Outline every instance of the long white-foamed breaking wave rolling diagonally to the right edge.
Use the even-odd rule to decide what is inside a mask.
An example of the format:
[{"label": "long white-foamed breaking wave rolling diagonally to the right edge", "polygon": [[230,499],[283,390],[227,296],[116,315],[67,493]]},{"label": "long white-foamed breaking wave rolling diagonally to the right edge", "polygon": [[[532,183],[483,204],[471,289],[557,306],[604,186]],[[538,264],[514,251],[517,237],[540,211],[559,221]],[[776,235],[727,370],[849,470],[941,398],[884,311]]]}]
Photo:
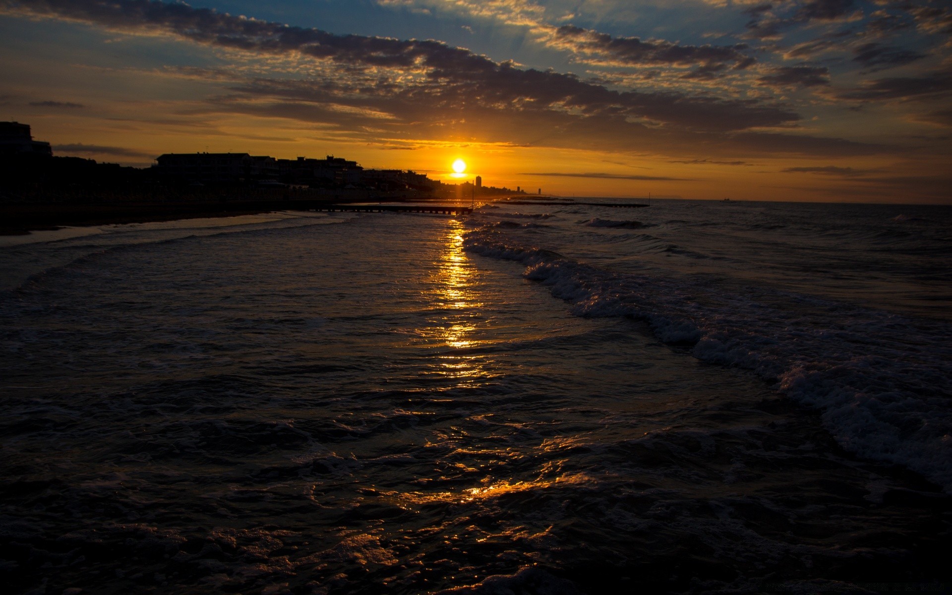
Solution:
[{"label": "long white-foamed breaking wave rolling diagonally to the right edge", "polygon": [[731,293],[689,277],[610,272],[499,231],[466,250],[520,262],[578,316],[645,321],[704,362],[753,370],[815,407],[846,449],[906,466],[952,493],[952,326],[759,288]]}]

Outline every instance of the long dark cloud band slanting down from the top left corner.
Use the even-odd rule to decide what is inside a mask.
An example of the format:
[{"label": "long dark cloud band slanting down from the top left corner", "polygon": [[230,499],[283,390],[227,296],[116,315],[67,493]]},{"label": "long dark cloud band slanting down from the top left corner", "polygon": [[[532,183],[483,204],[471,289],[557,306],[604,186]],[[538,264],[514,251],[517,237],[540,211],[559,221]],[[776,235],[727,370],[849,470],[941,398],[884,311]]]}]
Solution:
[{"label": "long dark cloud band slanting down from the top left corner", "polygon": [[[89,22],[112,30],[172,33],[197,43],[258,54],[329,60],[339,67],[334,78],[370,69],[393,70],[394,76],[387,78],[387,72],[379,73],[377,80],[367,83],[365,89],[351,90],[389,95],[394,101],[412,98],[429,109],[452,103],[517,111],[572,110],[582,117],[610,114],[667,127],[724,131],[780,126],[799,120],[789,109],[760,101],[718,100],[678,92],[616,91],[572,74],[517,69],[511,63],[497,63],[437,41],[335,35],[193,9],[185,4],[148,0],[0,0],[0,7],[8,12]],[[666,55],[669,60],[684,51],[659,45],[653,48],[651,51]],[[735,65],[741,59],[737,49],[702,47],[686,51],[685,60],[692,52],[695,57],[729,57]],[[416,76],[407,82],[410,77],[397,74]],[[333,81],[329,84],[332,86]],[[312,86],[309,90],[315,89]],[[334,100],[339,101],[340,97]]]}]

